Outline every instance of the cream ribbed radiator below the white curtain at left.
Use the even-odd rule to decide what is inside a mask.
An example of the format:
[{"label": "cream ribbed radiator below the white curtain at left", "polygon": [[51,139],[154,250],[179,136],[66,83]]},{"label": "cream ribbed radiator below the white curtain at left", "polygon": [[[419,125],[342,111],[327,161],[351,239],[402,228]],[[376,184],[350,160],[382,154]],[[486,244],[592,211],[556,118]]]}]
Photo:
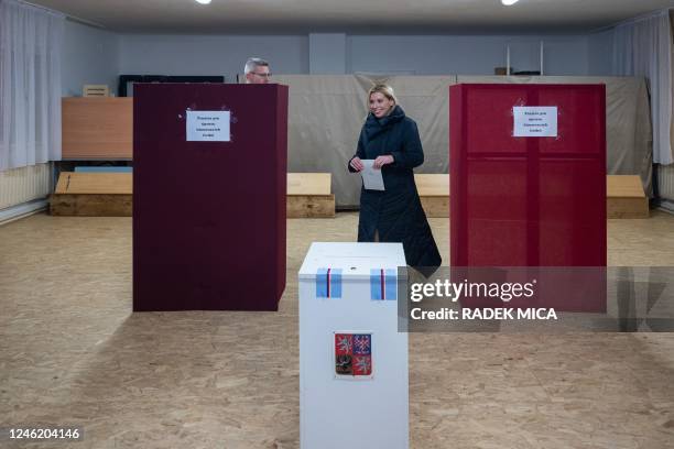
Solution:
[{"label": "cream ribbed radiator below the white curtain at left", "polygon": [[51,163],[0,172],[0,210],[45,198],[51,191]]}]

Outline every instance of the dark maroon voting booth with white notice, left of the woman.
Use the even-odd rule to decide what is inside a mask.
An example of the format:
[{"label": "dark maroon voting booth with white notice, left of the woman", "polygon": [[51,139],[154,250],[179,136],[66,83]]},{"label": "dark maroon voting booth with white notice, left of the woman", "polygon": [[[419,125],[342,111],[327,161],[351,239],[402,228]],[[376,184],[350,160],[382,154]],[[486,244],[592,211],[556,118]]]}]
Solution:
[{"label": "dark maroon voting booth with white notice, left of the woman", "polygon": [[133,310],[276,310],[287,87],[137,84]]}]

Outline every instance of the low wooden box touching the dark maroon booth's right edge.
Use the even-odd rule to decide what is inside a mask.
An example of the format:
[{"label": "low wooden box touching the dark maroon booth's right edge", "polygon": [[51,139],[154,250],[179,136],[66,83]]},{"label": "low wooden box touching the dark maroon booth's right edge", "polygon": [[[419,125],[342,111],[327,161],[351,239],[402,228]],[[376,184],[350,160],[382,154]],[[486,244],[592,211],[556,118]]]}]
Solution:
[{"label": "low wooden box touching the dark maroon booth's right edge", "polygon": [[335,217],[335,195],[330,194],[329,173],[289,173],[287,218]]}]

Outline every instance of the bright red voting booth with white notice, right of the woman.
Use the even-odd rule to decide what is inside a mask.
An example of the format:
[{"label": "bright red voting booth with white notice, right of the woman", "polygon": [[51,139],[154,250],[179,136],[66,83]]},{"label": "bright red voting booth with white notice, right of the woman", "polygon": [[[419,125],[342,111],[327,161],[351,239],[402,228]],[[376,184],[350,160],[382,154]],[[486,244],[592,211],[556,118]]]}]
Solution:
[{"label": "bright red voting booth with white notice, right of the woman", "polygon": [[[552,276],[537,280],[539,300],[604,310],[605,86],[464,84],[449,92],[452,266],[550,267],[537,272]],[[583,288],[555,296],[574,283]]]}]

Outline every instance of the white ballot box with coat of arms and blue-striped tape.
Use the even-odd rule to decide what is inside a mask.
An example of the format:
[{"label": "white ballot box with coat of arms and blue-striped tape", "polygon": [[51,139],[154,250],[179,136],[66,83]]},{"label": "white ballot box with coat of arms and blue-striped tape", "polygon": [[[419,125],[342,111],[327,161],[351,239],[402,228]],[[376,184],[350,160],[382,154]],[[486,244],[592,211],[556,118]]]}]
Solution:
[{"label": "white ballot box with coat of arms and blue-striped tape", "polygon": [[312,243],[300,269],[302,449],[407,449],[399,266],[400,243]]}]

